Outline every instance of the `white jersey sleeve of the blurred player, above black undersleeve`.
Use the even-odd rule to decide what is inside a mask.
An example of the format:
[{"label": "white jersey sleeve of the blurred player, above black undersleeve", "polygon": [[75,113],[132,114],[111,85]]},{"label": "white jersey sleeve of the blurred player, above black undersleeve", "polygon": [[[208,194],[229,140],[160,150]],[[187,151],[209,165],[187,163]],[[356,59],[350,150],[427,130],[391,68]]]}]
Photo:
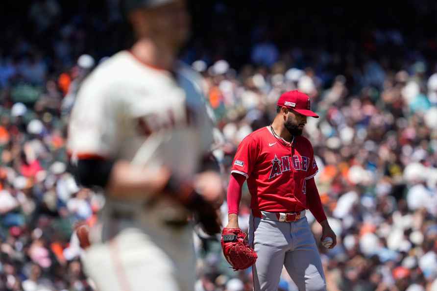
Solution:
[{"label": "white jersey sleeve of the blurred player, above black undersleeve", "polygon": [[68,127],[68,149],[73,158],[111,158],[118,150],[118,117],[122,106],[96,78],[79,90]]}]

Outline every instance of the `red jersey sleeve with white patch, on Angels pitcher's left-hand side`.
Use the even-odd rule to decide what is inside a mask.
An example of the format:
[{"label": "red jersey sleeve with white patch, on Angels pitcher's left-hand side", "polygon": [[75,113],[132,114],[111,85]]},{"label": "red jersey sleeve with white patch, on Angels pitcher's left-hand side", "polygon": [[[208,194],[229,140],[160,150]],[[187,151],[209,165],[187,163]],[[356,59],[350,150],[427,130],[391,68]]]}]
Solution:
[{"label": "red jersey sleeve with white patch, on Angels pitcher's left-hand side", "polygon": [[231,173],[242,174],[247,179],[256,163],[258,152],[256,141],[250,136],[244,138],[232,162]]}]

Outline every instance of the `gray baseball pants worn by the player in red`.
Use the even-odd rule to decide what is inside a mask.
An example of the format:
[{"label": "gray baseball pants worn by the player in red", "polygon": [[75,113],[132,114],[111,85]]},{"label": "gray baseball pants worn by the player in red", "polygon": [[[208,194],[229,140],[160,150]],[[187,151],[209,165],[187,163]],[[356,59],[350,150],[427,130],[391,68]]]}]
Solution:
[{"label": "gray baseball pants worn by the player in red", "polygon": [[261,212],[249,218],[249,244],[258,254],[253,266],[254,291],[277,291],[283,266],[299,291],[326,291],[320,255],[307,218],[280,222]]}]

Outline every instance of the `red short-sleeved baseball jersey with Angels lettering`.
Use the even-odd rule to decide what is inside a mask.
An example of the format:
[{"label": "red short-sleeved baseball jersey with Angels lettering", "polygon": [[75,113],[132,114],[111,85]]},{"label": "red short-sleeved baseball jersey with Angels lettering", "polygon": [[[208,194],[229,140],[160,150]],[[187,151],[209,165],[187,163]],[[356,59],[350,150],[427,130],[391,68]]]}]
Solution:
[{"label": "red short-sleeved baseball jersey with Angels lettering", "polygon": [[243,139],[231,173],[247,178],[252,210],[294,212],[308,209],[306,180],[317,171],[308,139],[297,136],[289,143],[276,137],[267,126]]}]

